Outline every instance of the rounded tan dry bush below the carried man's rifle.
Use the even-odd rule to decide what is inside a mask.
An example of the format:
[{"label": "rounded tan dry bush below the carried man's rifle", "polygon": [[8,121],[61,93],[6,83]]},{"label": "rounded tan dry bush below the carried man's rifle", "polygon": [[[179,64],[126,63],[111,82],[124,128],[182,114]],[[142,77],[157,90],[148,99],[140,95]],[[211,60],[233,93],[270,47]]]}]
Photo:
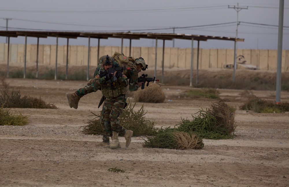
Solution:
[{"label": "rounded tan dry bush below the carried man's rifle", "polygon": [[145,103],[162,103],[165,99],[164,91],[156,83],[150,83],[149,86],[145,86],[144,89],[138,89],[134,93],[136,102]]}]

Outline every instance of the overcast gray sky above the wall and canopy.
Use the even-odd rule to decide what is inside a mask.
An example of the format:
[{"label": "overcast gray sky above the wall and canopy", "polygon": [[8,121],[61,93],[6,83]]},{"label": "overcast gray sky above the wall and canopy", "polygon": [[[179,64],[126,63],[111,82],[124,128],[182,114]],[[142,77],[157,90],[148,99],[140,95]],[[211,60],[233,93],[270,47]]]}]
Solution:
[{"label": "overcast gray sky above the wall and canopy", "polygon": [[[153,32],[236,37],[238,13],[239,49],[277,49],[279,0],[1,0],[0,30],[54,30],[84,32]],[[187,28],[183,28],[187,27]],[[0,43],[6,38],[0,37]],[[66,45],[66,39],[58,39]],[[10,38],[10,43],[24,43],[25,37]],[[97,46],[97,39],[90,45]],[[27,43],[37,43],[27,38]],[[40,44],[55,44],[56,39],[40,39]],[[88,45],[88,39],[70,39],[70,45]],[[101,39],[100,45],[120,46],[121,39]],[[124,39],[129,46],[129,40]],[[162,41],[158,41],[162,46]],[[133,40],[132,46],[155,46],[155,40]],[[173,41],[165,41],[173,47]],[[175,47],[191,47],[191,41],[175,40]],[[197,42],[194,43],[197,47]],[[234,48],[234,42],[208,40],[201,48]],[[289,1],[284,3],[283,49],[289,49]]]}]

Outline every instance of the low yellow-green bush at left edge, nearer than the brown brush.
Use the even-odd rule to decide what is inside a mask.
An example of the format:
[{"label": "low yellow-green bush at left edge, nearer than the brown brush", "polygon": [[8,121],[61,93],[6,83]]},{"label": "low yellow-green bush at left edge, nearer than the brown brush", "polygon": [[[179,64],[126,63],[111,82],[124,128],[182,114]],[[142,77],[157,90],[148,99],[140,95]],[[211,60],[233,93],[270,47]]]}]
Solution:
[{"label": "low yellow-green bush at left edge, nearer than the brown brush", "polygon": [[0,108],[0,125],[25,125],[28,123],[28,116],[12,114],[10,109]]}]

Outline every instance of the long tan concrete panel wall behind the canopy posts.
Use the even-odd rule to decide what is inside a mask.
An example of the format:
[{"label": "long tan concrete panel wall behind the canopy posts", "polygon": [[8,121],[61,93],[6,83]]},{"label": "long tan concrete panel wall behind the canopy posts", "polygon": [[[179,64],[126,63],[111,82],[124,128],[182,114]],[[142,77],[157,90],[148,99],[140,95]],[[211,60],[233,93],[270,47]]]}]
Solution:
[{"label": "long tan concrete panel wall behind the canopy posts", "polygon": [[[121,52],[118,46],[100,46],[99,57],[97,55],[97,46],[90,47],[90,66],[97,66],[97,60],[100,56],[112,56],[115,51]],[[123,47],[123,53],[129,56],[129,47]],[[157,67],[162,67],[162,47],[157,49]],[[7,64],[8,44],[0,43],[0,63]],[[23,62],[25,60],[25,45],[10,44],[9,64]],[[36,62],[37,45],[26,45],[26,62]],[[66,64],[67,46],[58,45],[57,63]],[[247,60],[246,64],[253,64],[261,70],[277,69],[277,50],[268,49],[237,49],[237,56],[243,55]],[[155,66],[155,47],[131,47],[131,56],[142,57],[149,65]],[[39,45],[38,63],[55,65],[56,45]],[[68,64],[87,65],[88,64],[88,46],[69,45],[68,46]],[[199,49],[199,69],[224,68],[227,64],[234,64],[234,49]],[[164,49],[164,67],[186,68],[191,67],[191,49],[165,47]],[[197,69],[197,48],[193,50],[193,68]],[[289,50],[282,51],[282,72],[289,71]]]}]

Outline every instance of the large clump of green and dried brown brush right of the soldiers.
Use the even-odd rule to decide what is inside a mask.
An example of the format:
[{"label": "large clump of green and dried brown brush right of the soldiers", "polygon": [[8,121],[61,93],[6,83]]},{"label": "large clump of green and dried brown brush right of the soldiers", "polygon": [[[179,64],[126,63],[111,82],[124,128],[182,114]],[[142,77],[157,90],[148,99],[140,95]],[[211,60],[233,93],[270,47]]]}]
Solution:
[{"label": "large clump of green and dried brown brush right of the soldiers", "polygon": [[174,128],[159,129],[152,137],[147,137],[143,147],[186,149],[203,148],[203,140],[233,138],[236,129],[235,113],[219,99],[210,109],[200,110],[193,120],[181,119],[182,122]]}]

